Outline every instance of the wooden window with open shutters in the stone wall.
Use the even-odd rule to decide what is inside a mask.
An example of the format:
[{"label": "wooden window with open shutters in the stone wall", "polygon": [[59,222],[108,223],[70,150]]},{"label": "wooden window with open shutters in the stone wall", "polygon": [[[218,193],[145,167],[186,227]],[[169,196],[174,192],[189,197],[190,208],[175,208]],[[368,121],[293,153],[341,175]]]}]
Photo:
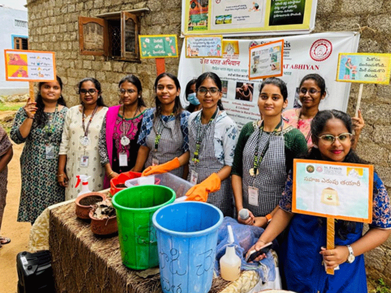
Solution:
[{"label": "wooden window with open shutters in the stone wall", "polygon": [[[113,60],[140,62],[138,33],[140,13],[147,8],[112,12],[99,18],[79,17],[79,46],[83,55],[108,56]],[[137,13],[138,15],[136,15]]]}]

